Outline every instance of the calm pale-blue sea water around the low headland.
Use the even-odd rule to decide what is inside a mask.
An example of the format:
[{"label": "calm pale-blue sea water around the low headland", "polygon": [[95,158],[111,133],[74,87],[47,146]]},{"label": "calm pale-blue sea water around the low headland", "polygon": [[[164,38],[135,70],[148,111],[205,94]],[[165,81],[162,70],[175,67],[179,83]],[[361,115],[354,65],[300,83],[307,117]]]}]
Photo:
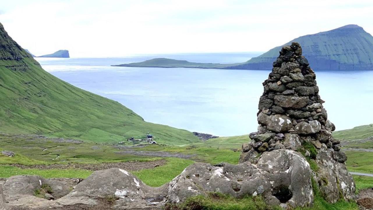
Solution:
[{"label": "calm pale-blue sea water around the low headland", "polygon": [[[179,54],[193,62],[244,62],[255,53]],[[153,56],[154,57],[154,56]],[[257,128],[257,104],[269,71],[111,67],[152,56],[37,58],[43,68],[84,90],[122,103],[146,121],[219,136]],[[329,119],[338,130],[373,123],[373,71],[316,72]]]}]

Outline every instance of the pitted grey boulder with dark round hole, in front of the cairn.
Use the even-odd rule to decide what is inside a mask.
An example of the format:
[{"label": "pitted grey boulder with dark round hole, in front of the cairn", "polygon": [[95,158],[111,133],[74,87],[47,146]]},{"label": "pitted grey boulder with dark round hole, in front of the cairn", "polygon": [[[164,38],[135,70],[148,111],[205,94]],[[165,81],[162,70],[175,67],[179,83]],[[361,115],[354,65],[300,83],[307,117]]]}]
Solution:
[{"label": "pitted grey boulder with dark round hole, in front of the cairn", "polygon": [[308,162],[292,150],[265,152],[256,165],[195,163],[170,182],[167,201],[217,191],[234,197],[262,195],[267,203],[284,207],[308,206],[313,202],[311,176]]}]

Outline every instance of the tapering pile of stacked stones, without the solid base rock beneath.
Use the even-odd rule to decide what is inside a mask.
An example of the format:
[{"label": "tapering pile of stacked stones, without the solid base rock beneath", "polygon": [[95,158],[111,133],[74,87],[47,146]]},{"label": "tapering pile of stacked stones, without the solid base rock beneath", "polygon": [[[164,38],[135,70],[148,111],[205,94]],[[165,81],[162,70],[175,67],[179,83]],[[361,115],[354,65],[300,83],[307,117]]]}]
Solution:
[{"label": "tapering pile of stacked stones, without the solid base rock beneath", "polygon": [[332,137],[335,126],[327,119],[316,74],[299,43],[282,47],[263,86],[258,131],[250,134],[250,143],[242,145],[240,162],[256,162],[265,151],[298,150],[305,141],[317,149],[325,144],[333,150],[333,159],[345,162],[339,140]]}]

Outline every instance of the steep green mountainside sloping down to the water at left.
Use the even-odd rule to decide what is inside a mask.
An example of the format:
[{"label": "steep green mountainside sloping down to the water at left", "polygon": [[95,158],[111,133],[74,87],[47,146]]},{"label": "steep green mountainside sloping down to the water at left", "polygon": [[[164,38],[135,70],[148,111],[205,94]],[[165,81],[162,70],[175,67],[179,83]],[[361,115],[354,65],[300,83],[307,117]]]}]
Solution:
[{"label": "steep green mountainside sloping down to the water at left", "polygon": [[191,132],[145,122],[120,103],[44,71],[0,23],[0,132],[124,141],[150,132],[166,144],[199,141]]}]

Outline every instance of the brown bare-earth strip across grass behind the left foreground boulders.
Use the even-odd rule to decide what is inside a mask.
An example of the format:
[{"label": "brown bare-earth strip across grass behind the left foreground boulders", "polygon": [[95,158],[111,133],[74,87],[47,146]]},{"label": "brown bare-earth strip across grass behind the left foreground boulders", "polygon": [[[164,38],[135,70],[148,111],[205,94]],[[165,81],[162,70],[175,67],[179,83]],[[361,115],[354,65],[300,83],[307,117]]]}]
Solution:
[{"label": "brown bare-earth strip across grass behind the left foreground boulders", "polygon": [[[9,164],[10,166],[19,167],[22,169],[85,169],[85,170],[103,170],[110,168],[120,168],[125,170],[141,170],[141,169],[152,169],[157,166],[166,164],[166,160],[154,160],[147,162],[140,161],[128,161],[120,163],[98,163],[98,164],[81,164],[81,163],[69,163],[69,164],[50,164],[50,165],[22,165],[22,164]],[[9,166],[8,165],[8,166]]]}]

